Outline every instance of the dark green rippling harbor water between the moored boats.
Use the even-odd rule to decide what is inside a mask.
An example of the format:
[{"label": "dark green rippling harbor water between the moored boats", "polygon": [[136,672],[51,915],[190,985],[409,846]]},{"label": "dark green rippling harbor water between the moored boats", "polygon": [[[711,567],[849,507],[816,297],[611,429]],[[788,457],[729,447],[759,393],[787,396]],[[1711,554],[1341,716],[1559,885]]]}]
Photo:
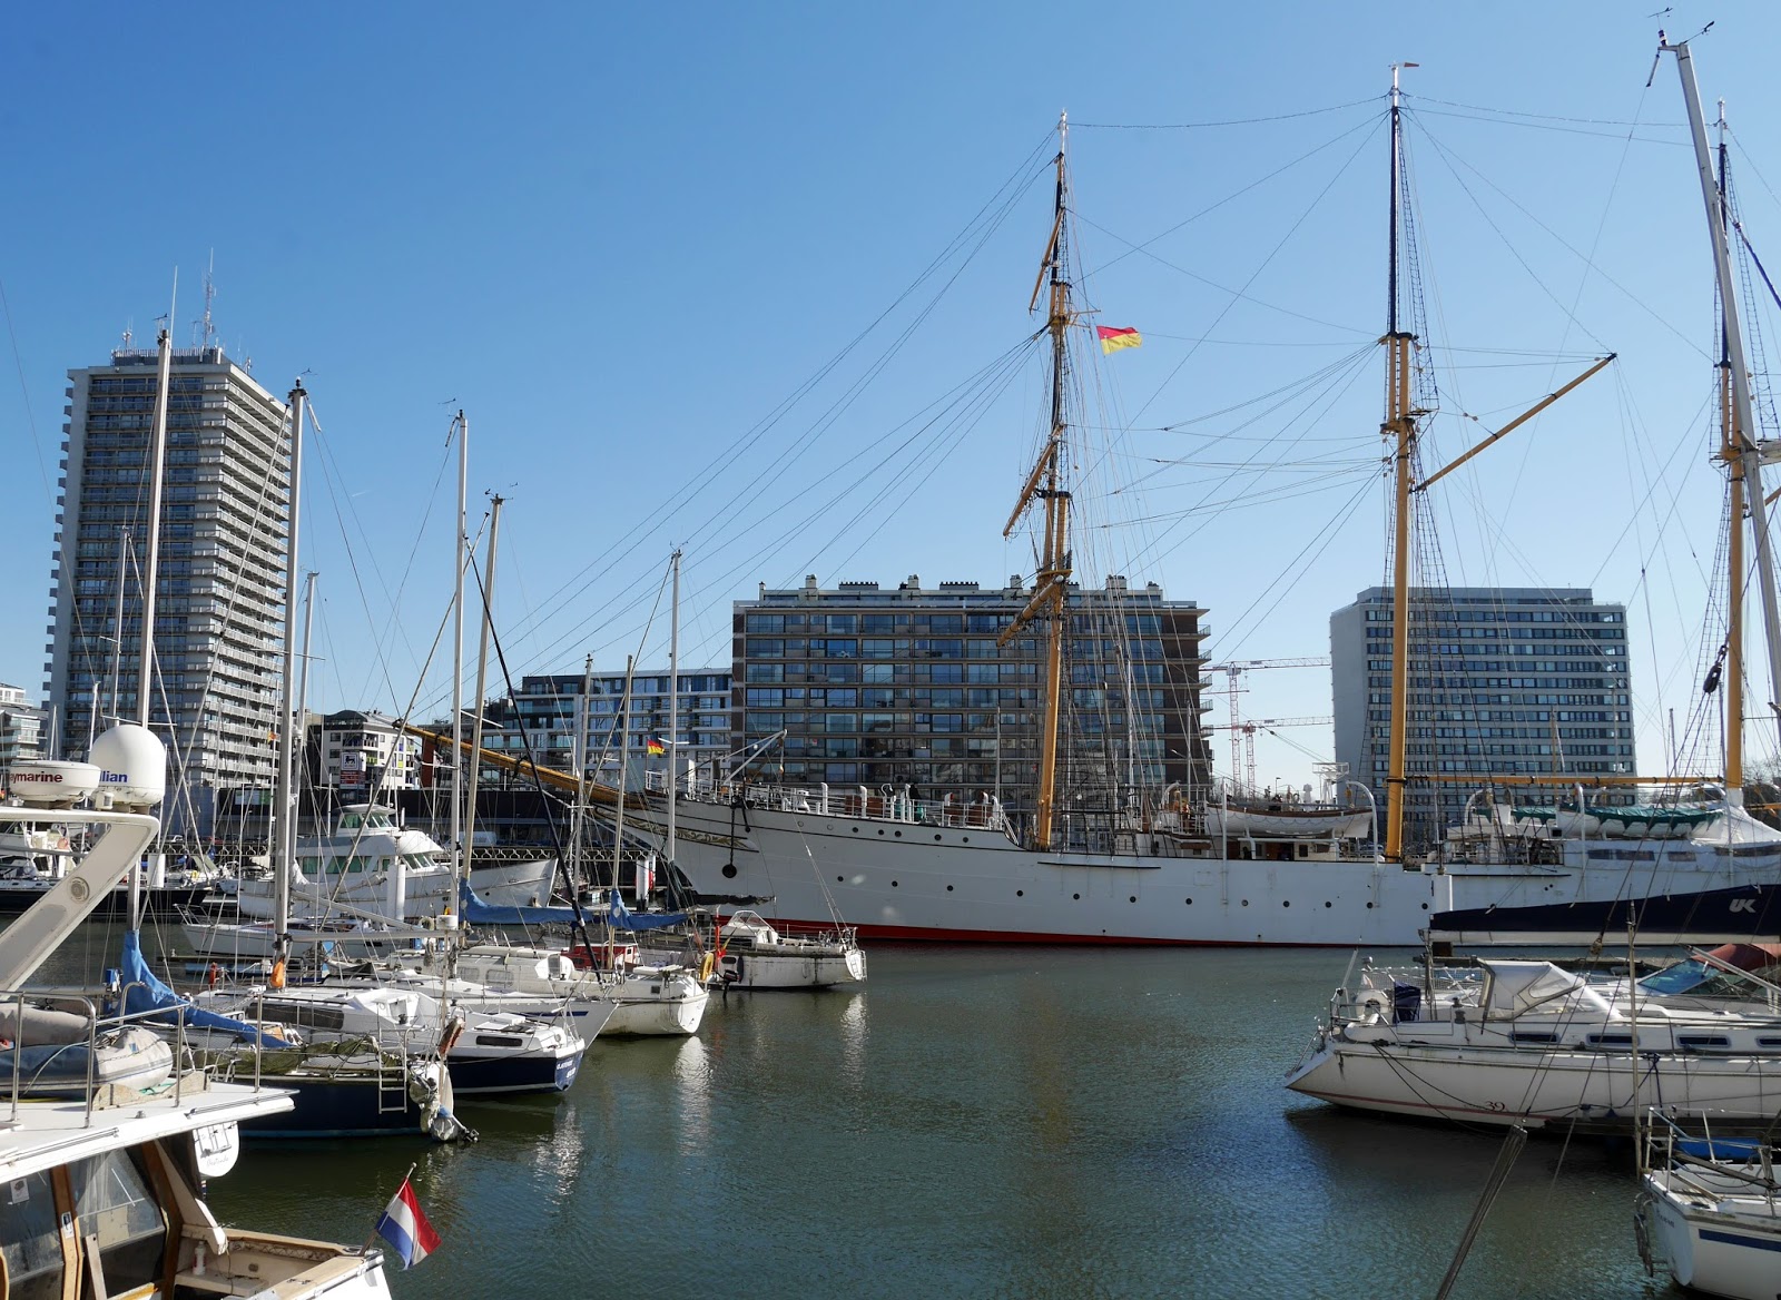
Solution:
[{"label": "dark green rippling harbor water between the moored boats", "polygon": [[[419,1161],[443,1243],[390,1261],[399,1300],[1434,1296],[1501,1136],[1284,1090],[1350,956],[873,946],[858,990],[712,997],[696,1038],[465,1106],[476,1145],[249,1147],[210,1200],[363,1241]],[[1631,1163],[1528,1142],[1452,1295],[1679,1295]]]}]

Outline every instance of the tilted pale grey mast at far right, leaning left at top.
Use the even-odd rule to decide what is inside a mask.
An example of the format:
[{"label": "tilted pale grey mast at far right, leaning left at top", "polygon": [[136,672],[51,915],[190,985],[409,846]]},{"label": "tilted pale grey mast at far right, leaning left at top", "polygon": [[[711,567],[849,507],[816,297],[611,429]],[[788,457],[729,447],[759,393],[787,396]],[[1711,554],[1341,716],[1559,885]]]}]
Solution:
[{"label": "tilted pale grey mast at far right, leaning left at top", "polygon": [[[1738,287],[1731,278],[1731,248],[1726,240],[1726,210],[1719,178],[1713,175],[1713,153],[1706,139],[1706,118],[1701,112],[1701,87],[1694,78],[1694,59],[1688,43],[1669,45],[1658,34],[1658,52],[1676,55],[1681,78],[1681,96],[1688,109],[1688,134],[1694,137],[1696,171],[1701,176],[1701,198],[1706,201],[1706,228],[1713,242],[1713,274],[1719,278],[1719,310],[1722,317],[1722,356],[1731,372],[1733,445],[1744,463],[1744,495],[1751,511],[1751,534],[1756,540],[1756,582],[1763,598],[1763,639],[1769,646],[1769,705],[1781,721],[1781,604],[1776,597],[1774,554],[1769,540],[1769,502],[1763,500],[1761,452],[1756,447],[1756,415],[1751,402],[1751,376],[1744,365],[1744,324],[1738,315]],[[1736,520],[1733,520],[1736,525]],[[1728,730],[1742,718],[1728,718]],[[1729,775],[1726,796],[1742,798],[1742,784],[1733,787]]]}]

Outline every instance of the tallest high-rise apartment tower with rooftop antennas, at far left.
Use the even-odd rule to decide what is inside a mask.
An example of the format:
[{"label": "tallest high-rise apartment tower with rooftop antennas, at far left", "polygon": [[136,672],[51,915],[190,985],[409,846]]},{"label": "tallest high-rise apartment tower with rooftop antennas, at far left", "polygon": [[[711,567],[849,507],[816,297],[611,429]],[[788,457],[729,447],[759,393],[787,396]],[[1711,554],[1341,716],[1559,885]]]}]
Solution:
[{"label": "tallest high-rise apartment tower with rooftop antennas, at far left", "polygon": [[[45,691],[61,753],[78,755],[110,719],[137,718],[157,354],[112,353],[68,378]],[[187,787],[169,807],[272,782],[287,424],[285,402],[221,347],[173,353],[148,709]]]}]

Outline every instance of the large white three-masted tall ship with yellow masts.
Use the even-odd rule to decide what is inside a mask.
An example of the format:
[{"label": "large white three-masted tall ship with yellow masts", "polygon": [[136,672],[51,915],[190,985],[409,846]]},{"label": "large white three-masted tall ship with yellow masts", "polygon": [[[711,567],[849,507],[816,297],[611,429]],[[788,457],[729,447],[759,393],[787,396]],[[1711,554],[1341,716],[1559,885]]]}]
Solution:
[{"label": "large white three-masted tall ship with yellow masts", "polygon": [[[1434,474],[1416,459],[1419,420],[1414,367],[1416,335],[1400,322],[1398,248],[1402,235],[1398,98],[1393,85],[1391,150],[1391,294],[1387,411],[1382,424],[1395,465],[1393,680],[1409,682],[1411,499],[1434,479],[1482,451],[1516,424],[1510,420],[1473,451]],[[1070,333],[1081,321],[1070,305],[1069,187],[1058,153],[1058,205],[1045,253],[1051,331],[1049,438],[1015,504],[1010,529],[1028,513],[1042,516],[1033,597],[1001,636],[1044,636],[1038,784],[1033,814],[1012,825],[994,798],[921,801],[908,789],[785,789],[737,780],[696,780],[675,771],[675,787],[629,801],[629,826],[663,844],[702,896],[700,901],[760,901],[773,922],[855,926],[862,938],[1026,940],[1111,944],[1419,944],[1441,914],[1489,914],[1492,924],[1537,914],[1541,924],[1573,924],[1587,915],[1599,930],[1614,906],[1644,899],[1681,901],[1678,938],[1751,933],[1753,887],[1781,885],[1781,833],[1761,826],[1733,798],[1706,807],[1687,833],[1610,839],[1610,826],[1587,819],[1541,835],[1537,851],[1517,844],[1496,851],[1478,839],[1441,846],[1427,858],[1407,853],[1403,787],[1409,711],[1391,711],[1391,775],[1384,835],[1373,849],[1366,808],[1329,803],[1298,807],[1293,816],[1236,803],[1208,807],[1206,794],[1159,791],[1129,796],[1118,807],[1081,812],[1063,805],[1058,784],[1060,696],[1067,598],[1072,575],[1069,541],[1072,463],[1063,399],[1072,369]],[[1037,301],[1037,296],[1035,296]],[[1423,349],[1425,351],[1425,349]],[[1544,410],[1582,376],[1535,404]],[[1081,362],[1076,363],[1081,367]],[[1754,492],[1751,500],[1760,500]],[[1733,664],[1736,668],[1736,664]],[[1736,673],[1731,673],[1733,677]],[[1738,716],[1738,714],[1733,714]],[[679,764],[677,764],[679,768]],[[1728,764],[1728,773],[1735,764]],[[1446,780],[1446,776],[1441,776]],[[1489,784],[1489,773],[1466,776]],[[1599,782],[1603,778],[1590,778]],[[1612,780],[1612,778],[1608,778]],[[1624,778],[1630,780],[1630,778]],[[1069,819],[1058,816],[1070,807]],[[1090,825],[1092,823],[1092,825]],[[1619,826],[1621,832],[1628,828]],[[1487,841],[1489,837],[1485,837]],[[1699,905],[1696,905],[1699,903]],[[737,903],[746,906],[746,903]],[[1576,910],[1567,922],[1565,910]],[[1781,912],[1781,908],[1777,908]],[[1624,924],[1621,926],[1624,931]],[[1587,942],[1582,937],[1578,942]],[[1658,942],[1658,935],[1646,935]]]}]

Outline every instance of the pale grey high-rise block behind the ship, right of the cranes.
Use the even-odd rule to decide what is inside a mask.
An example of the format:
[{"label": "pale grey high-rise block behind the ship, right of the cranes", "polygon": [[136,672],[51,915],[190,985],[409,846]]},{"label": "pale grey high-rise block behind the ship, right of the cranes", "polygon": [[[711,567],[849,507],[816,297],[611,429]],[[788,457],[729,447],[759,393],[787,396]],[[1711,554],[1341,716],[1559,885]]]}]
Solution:
[{"label": "pale grey high-rise block behind the ship, right of the cranes", "polygon": [[[1391,744],[1391,591],[1368,588],[1330,614],[1336,760],[1386,808]],[[1626,607],[1589,588],[1414,588],[1405,841],[1457,821],[1480,782],[1565,785],[1631,775]],[[1553,785],[1541,791],[1551,803]]]}]

